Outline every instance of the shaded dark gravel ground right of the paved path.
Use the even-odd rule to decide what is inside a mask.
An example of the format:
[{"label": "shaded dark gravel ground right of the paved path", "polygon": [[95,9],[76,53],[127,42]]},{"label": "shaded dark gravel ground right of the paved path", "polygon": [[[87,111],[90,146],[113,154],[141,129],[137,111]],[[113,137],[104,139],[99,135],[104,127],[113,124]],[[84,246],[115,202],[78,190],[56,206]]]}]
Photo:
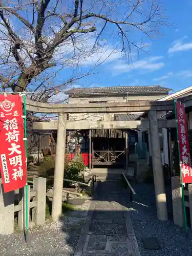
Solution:
[{"label": "shaded dark gravel ground right of the paved path", "polygon": [[[134,188],[137,195],[129,203],[129,209],[141,256],[192,255],[192,230],[189,229],[186,235],[184,229],[174,225],[172,221],[157,220],[153,185],[137,184]],[[141,240],[143,237],[158,238],[161,249],[144,249]]]}]

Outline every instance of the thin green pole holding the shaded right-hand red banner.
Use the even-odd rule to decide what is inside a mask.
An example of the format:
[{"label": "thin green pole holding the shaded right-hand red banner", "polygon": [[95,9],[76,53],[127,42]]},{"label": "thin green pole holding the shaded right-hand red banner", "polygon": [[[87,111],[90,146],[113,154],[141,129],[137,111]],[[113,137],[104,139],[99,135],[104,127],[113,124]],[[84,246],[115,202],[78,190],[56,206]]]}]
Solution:
[{"label": "thin green pole holding the shaded right-hand red banner", "polygon": [[177,144],[178,144],[178,152],[179,152],[179,168],[180,168],[180,176],[181,176],[181,191],[182,191],[182,202],[183,202],[183,215],[184,215],[184,226],[185,232],[187,232],[187,218],[186,218],[186,208],[185,208],[185,198],[184,198],[184,186],[183,186],[183,174],[181,169],[181,159],[180,159],[180,148],[179,148],[179,133],[178,133],[178,121],[177,121],[177,108],[176,108],[177,99],[174,99],[175,105],[175,117],[176,117],[176,127],[177,127]]}]

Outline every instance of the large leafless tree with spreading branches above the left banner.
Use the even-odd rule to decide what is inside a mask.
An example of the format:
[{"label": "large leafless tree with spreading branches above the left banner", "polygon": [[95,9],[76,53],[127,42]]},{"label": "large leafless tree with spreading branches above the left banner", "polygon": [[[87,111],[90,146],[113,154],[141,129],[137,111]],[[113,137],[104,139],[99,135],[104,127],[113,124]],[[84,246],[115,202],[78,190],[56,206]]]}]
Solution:
[{"label": "large leafless tree with spreading branches above the left banner", "polygon": [[[93,74],[114,51],[142,49],[144,36],[166,22],[158,0],[5,0],[0,17],[2,90],[31,91],[41,101]],[[82,62],[109,49],[106,37],[118,44],[82,71]]]}]

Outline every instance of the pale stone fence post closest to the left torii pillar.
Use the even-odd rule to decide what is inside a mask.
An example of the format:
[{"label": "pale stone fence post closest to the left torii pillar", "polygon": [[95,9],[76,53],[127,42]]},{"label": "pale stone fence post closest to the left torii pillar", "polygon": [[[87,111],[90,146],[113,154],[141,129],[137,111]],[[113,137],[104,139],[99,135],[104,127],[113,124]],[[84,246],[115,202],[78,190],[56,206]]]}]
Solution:
[{"label": "pale stone fence post closest to the left torii pillar", "polygon": [[32,210],[32,221],[36,225],[42,225],[46,221],[46,179],[38,177],[33,181],[33,190],[36,191],[34,197],[36,206]]}]

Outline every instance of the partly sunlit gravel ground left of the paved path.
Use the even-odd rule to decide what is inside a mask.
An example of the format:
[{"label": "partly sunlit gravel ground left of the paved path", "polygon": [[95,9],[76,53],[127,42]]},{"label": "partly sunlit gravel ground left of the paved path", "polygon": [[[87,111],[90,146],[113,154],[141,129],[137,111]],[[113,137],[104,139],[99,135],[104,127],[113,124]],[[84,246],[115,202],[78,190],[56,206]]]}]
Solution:
[{"label": "partly sunlit gravel ground left of the paved path", "polygon": [[30,229],[27,244],[23,233],[0,236],[0,255],[73,255],[90,203],[87,200],[82,206],[78,206],[78,210],[62,216],[57,223]]}]

